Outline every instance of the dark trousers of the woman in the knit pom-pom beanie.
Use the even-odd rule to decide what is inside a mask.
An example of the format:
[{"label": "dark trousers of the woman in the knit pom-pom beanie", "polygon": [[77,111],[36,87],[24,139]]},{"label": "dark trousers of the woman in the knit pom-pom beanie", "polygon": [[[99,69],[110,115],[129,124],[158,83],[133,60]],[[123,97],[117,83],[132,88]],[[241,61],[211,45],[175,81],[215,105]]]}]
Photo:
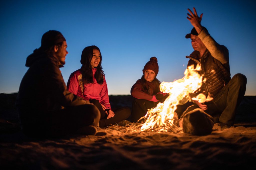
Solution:
[{"label": "dark trousers of the woman in the knit pom-pom beanie", "polygon": [[141,117],[146,115],[148,109],[154,108],[156,105],[157,102],[134,98],[130,117],[131,122],[137,122]]}]

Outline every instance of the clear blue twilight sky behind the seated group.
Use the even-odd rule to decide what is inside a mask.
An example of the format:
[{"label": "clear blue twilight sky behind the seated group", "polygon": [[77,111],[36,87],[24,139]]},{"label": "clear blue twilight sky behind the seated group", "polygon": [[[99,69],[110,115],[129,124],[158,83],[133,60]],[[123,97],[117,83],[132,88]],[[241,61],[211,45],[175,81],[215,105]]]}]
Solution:
[{"label": "clear blue twilight sky behind the seated group", "polygon": [[[203,2],[203,3],[202,3]],[[232,2],[232,3],[231,3]],[[156,56],[157,78],[183,77],[193,48],[185,35],[187,8],[204,13],[201,24],[229,49],[231,76],[247,76],[246,95],[256,95],[255,1],[6,1],[0,3],[0,93],[18,91],[26,57],[42,35],[60,31],[67,40],[65,82],[81,67],[84,47],[100,48],[109,95],[130,94],[145,63]]]}]

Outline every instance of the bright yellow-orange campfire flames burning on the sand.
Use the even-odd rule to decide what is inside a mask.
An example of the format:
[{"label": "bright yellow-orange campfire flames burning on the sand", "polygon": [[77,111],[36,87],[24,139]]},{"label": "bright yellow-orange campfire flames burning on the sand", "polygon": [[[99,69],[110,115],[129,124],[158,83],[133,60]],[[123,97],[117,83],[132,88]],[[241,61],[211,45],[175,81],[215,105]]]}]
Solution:
[{"label": "bright yellow-orange campfire flames burning on the sand", "polygon": [[[168,93],[169,96],[163,103],[158,103],[155,108],[148,110],[145,115],[145,123],[141,127],[141,131],[150,130],[158,132],[169,132],[174,125],[174,113],[178,104],[184,104],[190,100],[189,93],[194,93],[202,85],[202,76],[198,74],[201,70],[199,64],[194,66],[188,66],[184,72],[182,79],[174,82],[162,82],[160,84],[160,90],[164,93]],[[204,80],[206,81],[206,80]],[[200,96],[199,96],[200,95]],[[203,94],[199,94],[193,100],[199,102],[206,101],[206,97]],[[208,95],[210,96],[210,95]],[[207,97],[207,101],[211,100]]]}]

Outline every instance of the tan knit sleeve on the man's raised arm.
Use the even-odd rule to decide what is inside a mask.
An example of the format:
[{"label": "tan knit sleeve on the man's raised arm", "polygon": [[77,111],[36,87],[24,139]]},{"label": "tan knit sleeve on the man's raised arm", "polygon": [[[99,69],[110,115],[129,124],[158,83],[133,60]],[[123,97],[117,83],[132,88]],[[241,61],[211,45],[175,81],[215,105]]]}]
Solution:
[{"label": "tan knit sleeve on the man's raised arm", "polygon": [[209,50],[212,57],[219,60],[222,64],[229,62],[227,47],[225,47],[224,45],[219,45],[204,29],[202,29],[202,31],[198,34],[198,37]]}]

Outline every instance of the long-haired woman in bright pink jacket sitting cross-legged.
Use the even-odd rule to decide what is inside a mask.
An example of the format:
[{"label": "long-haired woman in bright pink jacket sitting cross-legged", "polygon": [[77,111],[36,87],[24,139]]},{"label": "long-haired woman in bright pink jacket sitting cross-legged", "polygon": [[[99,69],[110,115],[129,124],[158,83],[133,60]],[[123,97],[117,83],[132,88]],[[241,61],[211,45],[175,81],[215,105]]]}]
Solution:
[{"label": "long-haired woman in bright pink jacket sitting cross-legged", "polygon": [[101,67],[100,49],[94,45],[85,47],[80,62],[81,69],[73,72],[69,77],[68,90],[97,106],[101,113],[100,127],[127,119],[131,114],[129,108],[117,108],[113,111],[111,109],[105,74]]}]

